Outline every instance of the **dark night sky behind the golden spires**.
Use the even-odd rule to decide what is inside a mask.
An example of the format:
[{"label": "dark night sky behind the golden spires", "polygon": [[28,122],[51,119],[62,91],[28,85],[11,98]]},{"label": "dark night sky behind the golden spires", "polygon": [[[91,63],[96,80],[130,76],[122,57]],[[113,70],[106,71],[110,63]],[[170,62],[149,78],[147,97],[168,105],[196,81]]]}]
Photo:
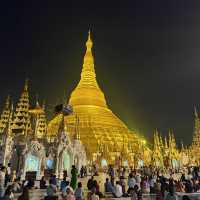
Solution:
[{"label": "dark night sky behind the golden spires", "polygon": [[0,103],[35,96],[67,102],[78,83],[89,27],[97,79],[108,105],[148,138],[173,129],[191,142],[200,112],[200,1],[3,1]]}]

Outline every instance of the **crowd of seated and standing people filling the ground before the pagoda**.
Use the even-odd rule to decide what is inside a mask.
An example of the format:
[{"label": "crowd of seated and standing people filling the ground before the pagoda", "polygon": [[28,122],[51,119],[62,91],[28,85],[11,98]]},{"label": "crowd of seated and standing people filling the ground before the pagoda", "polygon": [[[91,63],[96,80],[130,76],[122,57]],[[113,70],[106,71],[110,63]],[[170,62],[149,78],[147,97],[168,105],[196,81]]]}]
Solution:
[{"label": "crowd of seated and standing people filling the ground before the pagoda", "polygon": [[[189,200],[188,193],[198,193],[200,196],[200,169],[199,167],[185,168],[179,171],[172,169],[162,170],[153,167],[140,169],[119,168],[109,166],[104,189],[100,187],[97,168],[88,178],[87,188],[83,188],[83,177],[87,177],[87,168],[82,167],[80,172],[72,166],[71,174],[64,173],[61,181],[51,174],[42,177],[39,188],[45,191],[45,200],[56,200],[60,196],[63,200],[99,200],[99,198],[129,197],[131,200],[141,200],[145,195],[154,195],[155,200],[177,200],[182,194],[183,200]],[[79,181],[78,181],[79,178]],[[29,200],[31,190],[35,190],[35,181],[27,178],[21,181],[11,173],[11,166],[0,168],[0,199],[13,200],[14,194],[19,193],[18,200]],[[101,188],[101,189],[100,189]],[[101,191],[102,190],[102,191]],[[187,195],[186,195],[187,194]],[[180,199],[180,195],[179,195]]]}]

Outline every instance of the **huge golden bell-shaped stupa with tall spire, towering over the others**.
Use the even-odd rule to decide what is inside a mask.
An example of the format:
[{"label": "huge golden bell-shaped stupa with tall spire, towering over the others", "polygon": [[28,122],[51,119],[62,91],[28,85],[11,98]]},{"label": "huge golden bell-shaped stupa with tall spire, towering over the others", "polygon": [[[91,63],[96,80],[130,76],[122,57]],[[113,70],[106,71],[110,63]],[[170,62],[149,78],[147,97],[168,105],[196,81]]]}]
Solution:
[{"label": "huge golden bell-shaped stupa with tall spire, towering over the others", "polygon": [[[123,146],[128,149],[130,143],[136,149],[139,140],[138,136],[133,134],[109,109],[104,93],[96,80],[92,46],[93,42],[89,32],[81,78],[69,99],[73,114],[65,116],[64,120],[72,138],[76,134],[78,123],[80,140],[86,147],[89,157],[98,152],[99,143],[103,143],[101,145],[110,153],[109,160],[114,160],[111,152],[112,155],[115,153],[119,155]],[[62,116],[57,115],[49,122],[48,137],[55,137],[58,134],[61,120]]]}]

